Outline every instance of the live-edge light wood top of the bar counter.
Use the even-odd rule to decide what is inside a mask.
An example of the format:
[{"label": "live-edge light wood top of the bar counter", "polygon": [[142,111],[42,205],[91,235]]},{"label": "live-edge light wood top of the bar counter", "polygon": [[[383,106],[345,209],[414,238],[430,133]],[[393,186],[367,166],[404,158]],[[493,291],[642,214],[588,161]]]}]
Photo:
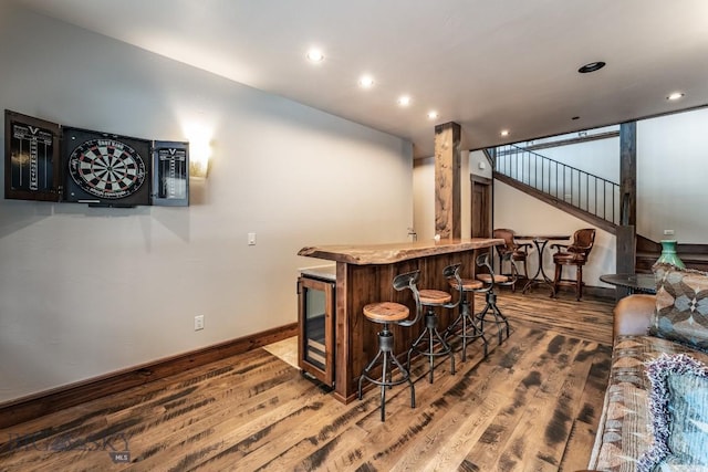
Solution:
[{"label": "live-edge light wood top of the bar counter", "polygon": [[442,239],[440,241],[430,239],[386,244],[306,247],[302,248],[298,255],[355,265],[392,264],[416,258],[470,251],[503,243],[503,239],[492,238]]}]

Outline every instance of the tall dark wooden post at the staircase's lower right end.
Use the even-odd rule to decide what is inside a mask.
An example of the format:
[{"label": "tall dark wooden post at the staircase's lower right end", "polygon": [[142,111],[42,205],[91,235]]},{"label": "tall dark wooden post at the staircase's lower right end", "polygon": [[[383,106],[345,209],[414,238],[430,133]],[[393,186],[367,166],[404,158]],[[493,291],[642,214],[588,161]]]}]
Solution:
[{"label": "tall dark wooden post at the staircase's lower right end", "polygon": [[[637,124],[620,125],[620,227],[616,235],[617,273],[634,273],[636,270],[636,219],[637,219]],[[626,289],[617,287],[617,300],[627,295]]]}]

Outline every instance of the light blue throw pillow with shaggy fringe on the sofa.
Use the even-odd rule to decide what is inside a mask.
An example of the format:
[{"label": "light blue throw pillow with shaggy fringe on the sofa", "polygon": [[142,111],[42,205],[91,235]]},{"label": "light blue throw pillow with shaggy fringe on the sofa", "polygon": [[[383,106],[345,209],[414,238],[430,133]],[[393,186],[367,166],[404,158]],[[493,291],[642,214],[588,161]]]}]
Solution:
[{"label": "light blue throw pillow with shaggy fringe on the sofa", "polygon": [[708,367],[687,354],[647,363],[654,442],[637,472],[708,470]]}]

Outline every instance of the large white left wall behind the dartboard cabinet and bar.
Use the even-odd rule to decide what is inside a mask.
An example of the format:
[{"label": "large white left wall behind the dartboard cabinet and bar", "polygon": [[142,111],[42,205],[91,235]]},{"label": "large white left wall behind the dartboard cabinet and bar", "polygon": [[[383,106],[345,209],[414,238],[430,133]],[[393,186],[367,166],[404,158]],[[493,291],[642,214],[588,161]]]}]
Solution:
[{"label": "large white left wall behind the dartboard cabinet and bar", "polygon": [[3,109],[212,133],[189,208],[0,200],[0,401],[293,323],[296,269],[322,263],[299,249],[404,241],[413,224],[406,140],[8,2],[0,64]]}]

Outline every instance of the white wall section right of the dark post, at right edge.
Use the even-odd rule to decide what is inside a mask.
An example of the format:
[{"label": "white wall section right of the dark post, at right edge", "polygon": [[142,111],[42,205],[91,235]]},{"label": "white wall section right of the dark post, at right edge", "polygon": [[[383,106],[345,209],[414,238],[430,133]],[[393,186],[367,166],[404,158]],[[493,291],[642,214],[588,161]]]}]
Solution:
[{"label": "white wall section right of the dark post, at right edge", "polygon": [[[708,243],[708,108],[637,123],[637,232]],[[664,235],[674,230],[674,237]]]}]

